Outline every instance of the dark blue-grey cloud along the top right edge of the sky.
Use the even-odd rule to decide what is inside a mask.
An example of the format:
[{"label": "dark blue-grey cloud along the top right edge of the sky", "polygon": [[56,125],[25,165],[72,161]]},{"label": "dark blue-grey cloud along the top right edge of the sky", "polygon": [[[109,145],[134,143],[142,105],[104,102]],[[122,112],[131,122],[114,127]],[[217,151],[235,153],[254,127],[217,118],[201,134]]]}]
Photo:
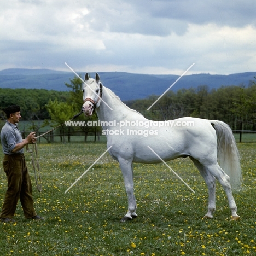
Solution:
[{"label": "dark blue-grey cloud along the top right edge of the sky", "polygon": [[194,24],[215,23],[235,27],[256,24],[254,0],[133,0],[133,4],[137,5],[137,10],[147,11],[150,16],[160,19],[165,17]]}]

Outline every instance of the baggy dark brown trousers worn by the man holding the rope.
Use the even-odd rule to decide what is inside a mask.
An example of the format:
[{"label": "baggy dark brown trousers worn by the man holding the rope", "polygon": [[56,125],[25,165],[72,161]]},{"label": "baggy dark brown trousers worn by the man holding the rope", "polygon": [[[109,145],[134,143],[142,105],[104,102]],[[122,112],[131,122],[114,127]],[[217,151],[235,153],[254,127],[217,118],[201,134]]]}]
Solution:
[{"label": "baggy dark brown trousers worn by the man holding the rope", "polygon": [[19,199],[25,218],[36,216],[33,206],[32,185],[24,155],[4,155],[3,169],[7,176],[8,188],[0,217],[13,218]]}]

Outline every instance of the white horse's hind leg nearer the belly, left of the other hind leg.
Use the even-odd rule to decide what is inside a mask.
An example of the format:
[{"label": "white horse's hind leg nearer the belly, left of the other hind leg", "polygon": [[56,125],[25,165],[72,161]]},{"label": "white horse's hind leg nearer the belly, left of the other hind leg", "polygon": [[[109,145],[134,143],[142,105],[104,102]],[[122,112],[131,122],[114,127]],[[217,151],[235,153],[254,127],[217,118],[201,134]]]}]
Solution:
[{"label": "white horse's hind leg nearer the belly, left of the other hind leg", "polygon": [[205,179],[205,182],[208,187],[208,211],[205,214],[203,218],[205,219],[211,219],[213,218],[213,213],[216,209],[216,179],[210,172],[207,172],[206,168],[203,167],[200,162],[194,158],[190,159],[194,162],[194,165],[199,170],[200,174],[202,175],[203,179]]}]

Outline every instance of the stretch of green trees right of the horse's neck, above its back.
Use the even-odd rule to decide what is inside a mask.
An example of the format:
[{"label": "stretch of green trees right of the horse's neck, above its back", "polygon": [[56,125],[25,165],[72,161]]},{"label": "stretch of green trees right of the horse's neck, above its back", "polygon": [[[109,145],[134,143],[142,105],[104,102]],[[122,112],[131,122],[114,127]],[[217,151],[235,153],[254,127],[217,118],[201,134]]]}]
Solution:
[{"label": "stretch of green trees right of the horse's neck, above its back", "polygon": [[222,86],[210,90],[207,85],[168,91],[159,96],[127,102],[129,107],[153,120],[196,117],[221,120],[232,130],[256,130],[256,83],[246,86]]}]

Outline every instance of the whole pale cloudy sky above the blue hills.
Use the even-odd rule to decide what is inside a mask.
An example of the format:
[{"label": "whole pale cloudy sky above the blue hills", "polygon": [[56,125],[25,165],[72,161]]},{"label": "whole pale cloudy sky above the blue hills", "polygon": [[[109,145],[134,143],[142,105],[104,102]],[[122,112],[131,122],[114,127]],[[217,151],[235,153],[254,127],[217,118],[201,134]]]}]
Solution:
[{"label": "whole pale cloudy sky above the blue hills", "polygon": [[256,71],[255,0],[8,0],[0,70]]}]

